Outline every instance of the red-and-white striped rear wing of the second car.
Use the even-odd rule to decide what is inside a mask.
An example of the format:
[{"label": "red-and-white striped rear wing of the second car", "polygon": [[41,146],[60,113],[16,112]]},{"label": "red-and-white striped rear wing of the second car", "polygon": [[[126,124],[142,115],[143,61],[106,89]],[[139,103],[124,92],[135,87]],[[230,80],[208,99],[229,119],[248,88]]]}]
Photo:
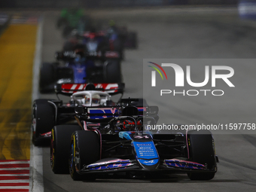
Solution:
[{"label": "red-and-white striped rear wing of the second car", "polygon": [[66,96],[82,90],[100,90],[109,95],[123,94],[124,84],[56,84],[55,92]]}]

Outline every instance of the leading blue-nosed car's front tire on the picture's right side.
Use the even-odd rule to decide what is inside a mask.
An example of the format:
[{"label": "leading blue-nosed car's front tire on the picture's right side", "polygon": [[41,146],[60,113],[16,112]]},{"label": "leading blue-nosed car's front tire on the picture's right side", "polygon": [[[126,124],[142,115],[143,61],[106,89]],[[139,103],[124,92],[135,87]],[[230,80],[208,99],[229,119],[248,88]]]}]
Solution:
[{"label": "leading blue-nosed car's front tire on the picture's right side", "polygon": [[[217,171],[215,159],[215,146],[212,133],[209,130],[191,130],[188,133],[188,148],[190,160],[207,164],[207,168]],[[189,172],[187,173],[190,180],[207,181],[215,177],[215,172]]]}]

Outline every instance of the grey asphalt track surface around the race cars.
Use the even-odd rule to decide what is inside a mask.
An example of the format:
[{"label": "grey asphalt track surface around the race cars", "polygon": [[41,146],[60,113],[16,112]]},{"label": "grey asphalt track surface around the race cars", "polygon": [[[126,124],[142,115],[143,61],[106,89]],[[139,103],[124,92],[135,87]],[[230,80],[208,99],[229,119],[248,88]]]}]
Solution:
[{"label": "grey asphalt track surface around the race cars", "polygon": [[[44,14],[44,62],[53,61],[53,53],[62,47],[63,40],[55,28],[57,15],[53,12]],[[139,49],[126,50],[125,61],[122,63],[123,81],[126,83],[124,98],[143,96],[143,59],[253,59],[256,53],[256,23],[239,20],[235,8],[152,9],[123,11],[123,14],[120,11],[112,11],[111,14],[98,12],[94,15],[105,18],[119,16],[117,20],[138,32]],[[212,115],[215,123],[223,121],[225,117],[229,123],[235,123],[232,121],[237,118],[240,123],[252,123],[255,114],[255,88],[246,87],[242,80],[245,78],[253,85],[255,69],[256,66],[236,66],[236,72],[239,71],[236,87],[244,89],[236,95],[224,97],[218,103],[222,105],[221,108],[208,108],[205,115],[200,113],[200,108],[205,107],[205,102],[200,99],[174,99],[169,103],[155,101],[154,104],[159,105],[160,111],[162,109],[161,114],[169,114],[174,123],[183,123],[182,120],[197,122],[204,120],[203,115],[207,115],[208,119]],[[55,96],[40,95],[40,98]],[[154,99],[151,100],[154,102]],[[215,149],[220,163],[212,181],[190,181],[186,174],[164,175],[163,178],[152,180],[110,176],[96,181],[72,181],[69,175],[53,174],[50,169],[50,149],[43,147],[44,191],[255,191],[256,136],[217,134]]]}]

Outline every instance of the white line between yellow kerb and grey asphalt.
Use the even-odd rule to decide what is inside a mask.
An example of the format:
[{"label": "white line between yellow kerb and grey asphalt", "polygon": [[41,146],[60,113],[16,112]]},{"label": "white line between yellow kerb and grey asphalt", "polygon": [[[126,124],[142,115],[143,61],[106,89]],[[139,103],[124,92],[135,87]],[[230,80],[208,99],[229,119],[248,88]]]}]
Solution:
[{"label": "white line between yellow kerb and grey asphalt", "polygon": [[[44,19],[43,17],[38,20],[38,32],[36,40],[36,50],[33,66],[33,83],[32,83],[32,102],[38,99],[38,77],[39,68],[41,64],[41,46],[42,46],[42,32],[43,32]],[[32,132],[31,132],[32,133]],[[32,141],[32,139],[31,139]],[[43,150],[42,148],[34,147],[31,142],[30,146],[30,180],[29,191],[44,192],[44,179],[43,179]]]}]

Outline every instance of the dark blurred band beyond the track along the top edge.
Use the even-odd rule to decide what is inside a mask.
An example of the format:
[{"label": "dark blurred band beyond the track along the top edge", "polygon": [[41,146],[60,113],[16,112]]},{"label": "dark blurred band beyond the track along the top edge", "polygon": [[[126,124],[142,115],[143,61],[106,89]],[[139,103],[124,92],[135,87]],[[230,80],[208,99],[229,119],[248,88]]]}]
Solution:
[{"label": "dark blurred band beyond the track along the top edge", "polygon": [[[1,8],[113,8],[164,5],[236,5],[239,0],[2,0]],[[246,1],[250,2],[250,1]]]}]

